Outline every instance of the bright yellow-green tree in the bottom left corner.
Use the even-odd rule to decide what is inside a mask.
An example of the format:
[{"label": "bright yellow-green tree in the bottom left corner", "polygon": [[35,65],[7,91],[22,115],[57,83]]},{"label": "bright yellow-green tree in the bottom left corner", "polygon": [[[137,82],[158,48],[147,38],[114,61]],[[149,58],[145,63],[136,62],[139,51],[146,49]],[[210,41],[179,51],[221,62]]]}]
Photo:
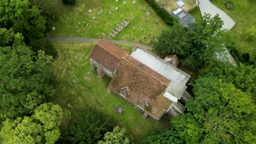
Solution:
[{"label": "bright yellow-green tree in the bottom left corner", "polygon": [[0,132],[2,143],[55,143],[60,136],[61,119],[59,105],[42,104],[31,117],[7,119]]}]

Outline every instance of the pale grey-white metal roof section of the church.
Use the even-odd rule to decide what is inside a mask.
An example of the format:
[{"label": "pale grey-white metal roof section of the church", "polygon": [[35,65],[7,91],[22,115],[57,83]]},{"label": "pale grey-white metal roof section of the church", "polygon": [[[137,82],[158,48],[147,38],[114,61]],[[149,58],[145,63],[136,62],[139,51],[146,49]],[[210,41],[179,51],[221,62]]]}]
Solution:
[{"label": "pale grey-white metal roof section of the church", "polygon": [[171,83],[168,86],[167,91],[174,97],[177,97],[178,99],[181,98],[190,75],[184,73],[184,71],[174,67],[170,63],[167,63],[158,56],[155,56],[153,53],[139,47],[133,50],[130,56],[170,80]]}]

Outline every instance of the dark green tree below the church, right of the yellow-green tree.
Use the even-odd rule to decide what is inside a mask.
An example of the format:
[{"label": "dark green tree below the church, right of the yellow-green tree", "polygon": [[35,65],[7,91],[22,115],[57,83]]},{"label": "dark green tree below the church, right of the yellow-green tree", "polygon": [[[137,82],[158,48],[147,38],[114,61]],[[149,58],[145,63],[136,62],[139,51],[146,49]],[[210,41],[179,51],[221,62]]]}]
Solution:
[{"label": "dark green tree below the church, right of the yellow-green tree", "polygon": [[95,108],[75,110],[68,127],[62,131],[60,143],[97,143],[114,128],[113,119]]}]

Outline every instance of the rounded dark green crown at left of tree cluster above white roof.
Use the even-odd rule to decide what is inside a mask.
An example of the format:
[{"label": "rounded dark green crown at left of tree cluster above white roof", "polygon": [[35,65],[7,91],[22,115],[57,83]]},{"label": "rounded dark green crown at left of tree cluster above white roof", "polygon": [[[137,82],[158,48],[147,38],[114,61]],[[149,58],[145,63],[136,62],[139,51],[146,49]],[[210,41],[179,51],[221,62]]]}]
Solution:
[{"label": "rounded dark green crown at left of tree cluster above white roof", "polygon": [[186,29],[180,23],[175,23],[171,29],[162,31],[158,39],[159,42],[154,45],[156,52],[188,55],[189,37]]}]

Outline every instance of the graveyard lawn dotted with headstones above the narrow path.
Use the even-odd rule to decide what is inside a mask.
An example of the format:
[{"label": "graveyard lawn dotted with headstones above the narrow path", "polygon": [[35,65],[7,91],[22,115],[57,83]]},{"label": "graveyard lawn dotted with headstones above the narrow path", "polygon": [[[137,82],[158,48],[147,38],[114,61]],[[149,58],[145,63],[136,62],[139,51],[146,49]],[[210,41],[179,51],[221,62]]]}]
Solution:
[{"label": "graveyard lawn dotted with headstones above the narrow path", "polygon": [[[54,25],[55,31],[51,29],[49,34],[54,37],[114,39],[109,32],[117,27],[121,21],[126,20],[130,21],[129,26],[125,27],[115,37],[115,40],[139,43],[141,39],[142,44],[149,45],[150,40],[155,41],[153,35],[154,38],[158,37],[161,31],[168,27],[145,1],[140,0],[132,4],[132,0],[126,0],[125,5],[122,3],[123,1],[116,3],[114,0],[78,0],[75,5],[71,6],[64,5],[60,1],[58,5],[59,19]],[[116,7],[118,10],[115,10]],[[144,7],[145,10],[143,10]],[[92,10],[91,13],[89,13],[89,9]],[[101,9],[103,13],[98,15]],[[147,10],[150,11],[149,16],[146,15]],[[109,11],[112,11],[112,14],[109,14]],[[96,19],[94,20],[93,17]],[[87,24],[88,27],[86,27]],[[132,30],[133,26],[135,26],[134,30]],[[141,32],[142,28],[143,31]],[[106,36],[103,37],[102,33]]]}]

